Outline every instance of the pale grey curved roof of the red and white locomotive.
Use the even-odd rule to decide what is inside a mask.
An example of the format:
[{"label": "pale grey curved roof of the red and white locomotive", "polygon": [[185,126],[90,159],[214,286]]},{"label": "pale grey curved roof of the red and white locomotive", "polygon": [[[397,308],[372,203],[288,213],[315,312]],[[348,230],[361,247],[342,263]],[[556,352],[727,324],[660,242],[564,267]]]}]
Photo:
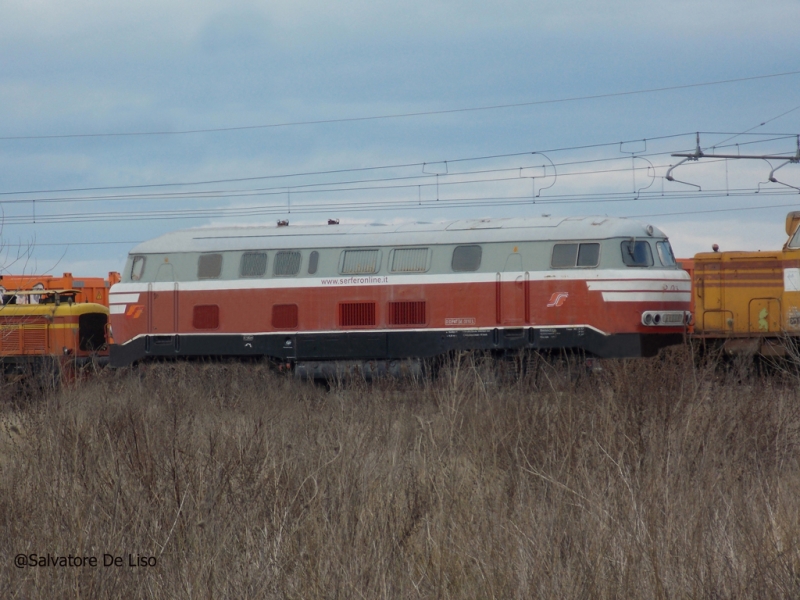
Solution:
[{"label": "pale grey curved roof of the red and white locomotive", "polygon": [[[612,217],[471,219],[400,225],[288,225],[207,227],[175,231],[142,242],[131,254],[215,252],[540,240],[646,237],[647,225]],[[665,237],[653,228],[653,237]]]}]

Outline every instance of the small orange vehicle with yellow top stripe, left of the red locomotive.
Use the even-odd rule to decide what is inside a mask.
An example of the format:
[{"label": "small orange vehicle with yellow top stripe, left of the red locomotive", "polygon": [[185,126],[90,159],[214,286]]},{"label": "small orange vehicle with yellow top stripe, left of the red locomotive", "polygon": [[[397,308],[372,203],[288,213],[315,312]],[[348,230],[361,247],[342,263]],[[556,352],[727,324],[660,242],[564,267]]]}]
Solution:
[{"label": "small orange vehicle with yellow top stripe, left of the red locomotive", "polygon": [[77,303],[77,290],[35,290],[35,304],[0,306],[0,364],[5,375],[71,372],[108,361],[108,308]]}]

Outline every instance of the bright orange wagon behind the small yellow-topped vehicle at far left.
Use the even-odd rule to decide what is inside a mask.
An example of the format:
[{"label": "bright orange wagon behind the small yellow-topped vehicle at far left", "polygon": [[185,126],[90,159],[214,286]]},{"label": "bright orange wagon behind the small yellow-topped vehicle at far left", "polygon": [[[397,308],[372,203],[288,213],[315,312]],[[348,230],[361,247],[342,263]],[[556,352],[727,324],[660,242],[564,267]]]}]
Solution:
[{"label": "bright orange wagon behind the small yellow-topped vehicle at far left", "polygon": [[[111,271],[108,279],[102,277],[81,277],[76,278],[72,273],[64,273],[61,277],[55,275],[0,275],[0,294],[6,296],[3,303],[11,300],[17,291],[37,291],[37,290],[75,290],[75,302],[83,304],[85,302],[95,302],[108,306],[108,290],[115,283],[119,283],[119,273]],[[29,298],[21,295],[15,303],[22,304],[28,300],[34,300],[36,295]]]}]

